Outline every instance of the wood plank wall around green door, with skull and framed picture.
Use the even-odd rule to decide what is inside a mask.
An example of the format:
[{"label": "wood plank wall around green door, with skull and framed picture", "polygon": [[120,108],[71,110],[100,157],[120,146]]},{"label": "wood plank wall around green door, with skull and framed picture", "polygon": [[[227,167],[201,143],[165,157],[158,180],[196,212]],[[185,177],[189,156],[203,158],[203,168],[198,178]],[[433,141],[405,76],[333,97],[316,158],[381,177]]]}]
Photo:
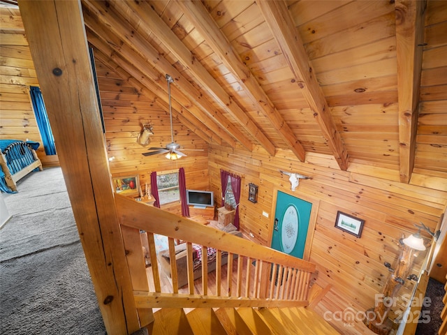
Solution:
[{"label": "wood plank wall around green door, with skull and framed picture", "polygon": [[[326,168],[333,165],[333,159],[328,156],[307,154],[306,161],[300,163],[287,151],[279,151],[272,157],[262,149],[250,153],[244,149],[212,146],[212,190],[221,192],[221,168],[240,174],[241,230],[247,238],[268,246],[274,222],[275,193],[278,190],[290,192],[291,188],[288,176],[281,175],[279,170],[312,177],[312,180],[300,181],[292,194],[298,198],[301,195],[302,198],[320,199],[309,260],[317,264],[316,283],[322,287],[331,284],[332,290],[317,309],[322,314],[345,308],[364,312],[374,307],[374,296],[381,292],[389,276],[383,262],[390,262],[392,267],[397,263],[400,253],[397,241],[402,233],[409,236],[416,232],[413,224],[420,221],[433,231],[446,211],[447,192]],[[256,204],[248,201],[249,183],[259,186]],[[335,228],[337,211],[365,219],[360,239]],[[254,237],[250,237],[250,233]],[[418,274],[424,255],[416,259],[412,273]],[[413,282],[406,281],[400,294],[409,294],[412,289]],[[392,318],[403,306],[402,299],[397,301],[390,313]],[[363,334],[365,330],[362,322],[356,322],[353,327],[336,323],[342,334]]]}]

